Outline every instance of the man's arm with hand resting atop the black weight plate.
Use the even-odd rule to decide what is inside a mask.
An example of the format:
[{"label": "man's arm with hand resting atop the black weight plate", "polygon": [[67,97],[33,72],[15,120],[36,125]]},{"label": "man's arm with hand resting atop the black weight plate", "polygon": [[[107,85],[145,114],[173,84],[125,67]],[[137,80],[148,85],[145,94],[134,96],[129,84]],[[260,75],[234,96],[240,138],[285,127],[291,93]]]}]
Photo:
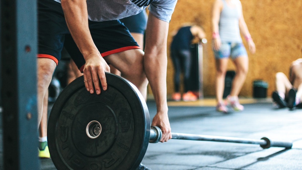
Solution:
[{"label": "man's arm with hand resting atop the black weight plate", "polygon": [[110,68],[95,46],[89,28],[86,0],[61,0],[65,19],[72,38],[86,61],[83,70],[85,87],[90,93],[101,93],[99,80],[103,90],[107,89],[105,71]]}]

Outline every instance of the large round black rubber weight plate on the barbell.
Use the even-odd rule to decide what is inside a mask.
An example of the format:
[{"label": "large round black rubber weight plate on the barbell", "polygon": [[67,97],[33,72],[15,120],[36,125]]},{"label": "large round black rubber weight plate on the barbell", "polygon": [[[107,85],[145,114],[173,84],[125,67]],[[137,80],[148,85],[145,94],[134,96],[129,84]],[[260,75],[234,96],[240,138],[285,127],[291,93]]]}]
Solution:
[{"label": "large round black rubber weight plate on the barbell", "polygon": [[[145,100],[124,78],[106,73],[106,79],[107,90],[97,95],[79,77],[53,104],[47,139],[57,169],[132,170],[142,161],[150,138]],[[96,138],[86,132],[92,121],[101,125]]]}]

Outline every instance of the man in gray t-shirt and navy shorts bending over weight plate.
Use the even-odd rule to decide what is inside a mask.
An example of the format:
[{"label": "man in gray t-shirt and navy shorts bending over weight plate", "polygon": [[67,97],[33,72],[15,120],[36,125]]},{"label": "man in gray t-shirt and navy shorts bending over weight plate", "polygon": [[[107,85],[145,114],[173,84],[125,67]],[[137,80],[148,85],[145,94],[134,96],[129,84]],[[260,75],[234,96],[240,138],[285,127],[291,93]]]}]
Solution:
[{"label": "man in gray t-shirt and navy shorts bending over weight plate", "polygon": [[[166,101],[167,34],[177,0],[39,0],[37,93],[38,124],[43,98],[65,48],[84,74],[85,89],[107,90],[108,64],[121,71],[146,98],[148,80],[157,105],[152,125],[171,139]],[[146,46],[143,52],[120,18],[135,15],[149,5]],[[155,67],[156,66],[156,67]],[[102,87],[100,87],[100,83]]]}]

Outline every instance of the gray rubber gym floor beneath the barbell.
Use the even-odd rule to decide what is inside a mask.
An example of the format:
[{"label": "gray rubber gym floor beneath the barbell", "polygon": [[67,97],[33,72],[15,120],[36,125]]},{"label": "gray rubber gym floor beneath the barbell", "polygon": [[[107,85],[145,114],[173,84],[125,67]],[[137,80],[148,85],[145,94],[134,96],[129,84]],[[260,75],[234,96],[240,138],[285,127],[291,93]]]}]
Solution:
[{"label": "gray rubber gym floor beneath the barbell", "polygon": [[[277,109],[271,99],[240,99],[243,112],[215,111],[214,99],[169,101],[172,132],[293,142],[292,149],[258,144],[171,139],[150,143],[142,163],[153,170],[301,170],[302,109]],[[150,118],[155,102],[147,101]],[[51,109],[51,105],[49,107]],[[2,116],[0,116],[2,118]],[[0,129],[2,135],[2,129]],[[2,161],[2,145],[0,158]],[[40,159],[41,170],[56,169],[51,159]],[[0,162],[0,169],[2,163]]]}]

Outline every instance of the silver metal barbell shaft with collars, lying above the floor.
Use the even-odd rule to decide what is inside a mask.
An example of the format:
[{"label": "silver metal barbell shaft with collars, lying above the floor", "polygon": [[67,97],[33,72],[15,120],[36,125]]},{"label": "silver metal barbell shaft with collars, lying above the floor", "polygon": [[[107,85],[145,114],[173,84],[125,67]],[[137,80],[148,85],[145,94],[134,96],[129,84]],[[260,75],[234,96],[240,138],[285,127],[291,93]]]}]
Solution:
[{"label": "silver metal barbell shaft with collars, lying above the floor", "polygon": [[[157,126],[151,126],[149,142],[150,143],[159,142],[161,136],[162,136],[162,132],[160,128]],[[263,149],[269,147],[291,148],[293,145],[292,142],[272,142],[270,139],[266,137],[263,137],[261,139],[247,139],[247,138],[236,138],[236,137],[225,137],[225,136],[195,135],[195,134],[186,134],[186,133],[172,133],[172,139],[259,144]]]}]

